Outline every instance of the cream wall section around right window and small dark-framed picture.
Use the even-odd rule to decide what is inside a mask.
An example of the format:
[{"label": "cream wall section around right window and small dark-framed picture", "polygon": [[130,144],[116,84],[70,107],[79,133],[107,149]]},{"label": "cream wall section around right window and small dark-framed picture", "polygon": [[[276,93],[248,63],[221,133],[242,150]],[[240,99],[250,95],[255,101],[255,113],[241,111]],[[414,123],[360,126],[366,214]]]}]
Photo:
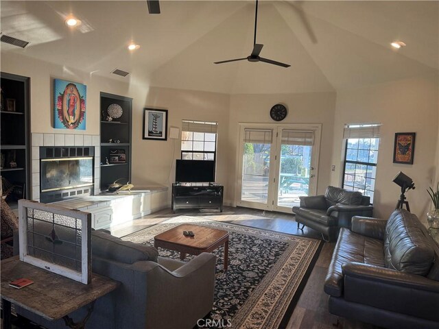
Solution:
[{"label": "cream wall section around right window and small dark-framed picture", "polygon": [[[436,185],[438,167],[438,77],[400,80],[367,88],[339,91],[335,110],[331,184],[342,182],[342,133],[345,123],[382,123],[377,162],[374,215],[388,217],[401,188],[392,182],[403,171],[416,189],[406,193],[410,209],[421,221],[431,208],[427,187]],[[413,164],[392,162],[395,132],[416,132]]]}]

